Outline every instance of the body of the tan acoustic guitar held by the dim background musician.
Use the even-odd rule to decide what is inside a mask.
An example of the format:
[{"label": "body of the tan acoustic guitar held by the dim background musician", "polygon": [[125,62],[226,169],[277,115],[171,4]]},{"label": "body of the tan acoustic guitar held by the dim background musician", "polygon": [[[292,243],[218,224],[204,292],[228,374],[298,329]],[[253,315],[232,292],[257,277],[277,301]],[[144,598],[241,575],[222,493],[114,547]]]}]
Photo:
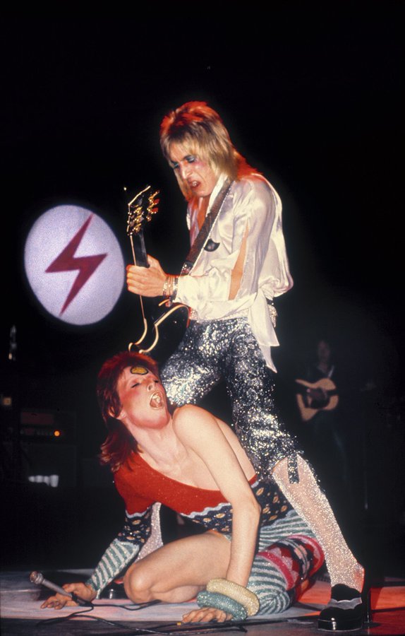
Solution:
[{"label": "body of the tan acoustic guitar held by the dim background musician", "polygon": [[311,420],[319,411],[333,411],[339,404],[339,396],[334,382],[328,377],[322,377],[318,382],[307,382],[296,379],[296,401],[301,419]]}]

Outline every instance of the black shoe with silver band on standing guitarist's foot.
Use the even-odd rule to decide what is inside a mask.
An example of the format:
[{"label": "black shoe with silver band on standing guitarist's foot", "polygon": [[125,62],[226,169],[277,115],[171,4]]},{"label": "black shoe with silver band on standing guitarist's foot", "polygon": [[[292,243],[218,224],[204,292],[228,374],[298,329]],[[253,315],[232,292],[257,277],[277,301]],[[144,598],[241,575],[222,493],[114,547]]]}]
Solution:
[{"label": "black shoe with silver band on standing guitarist's foot", "polygon": [[334,585],[329,603],[318,616],[318,628],[328,632],[349,632],[363,627],[361,593],[347,585]]}]

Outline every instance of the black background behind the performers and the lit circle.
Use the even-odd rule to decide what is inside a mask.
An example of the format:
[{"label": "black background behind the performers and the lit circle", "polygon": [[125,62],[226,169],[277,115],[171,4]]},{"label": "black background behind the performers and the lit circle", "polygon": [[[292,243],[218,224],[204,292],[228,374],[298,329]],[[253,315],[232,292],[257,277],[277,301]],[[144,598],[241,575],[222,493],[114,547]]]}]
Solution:
[{"label": "black background behind the performers and the lit circle", "polygon": [[[394,543],[403,534],[404,3],[235,7],[3,20],[0,392],[12,394],[13,406],[1,413],[1,474],[10,567],[91,567],[119,528],[121,503],[95,457],[104,438],[95,377],[140,328],[126,291],[91,326],[49,316],[25,279],[25,239],[47,208],[77,202],[107,220],[130,262],[123,187],[152,182],[162,194],[147,246],[177,271],[187,251],[185,204],[158,130],[187,100],[219,111],[235,146],[282,196],[295,285],[277,303],[274,358],[291,428],[289,379],[325,334],[353,387],[375,387],[353,423],[361,525],[354,529],[344,514],[343,522],[359,550],[360,531]],[[13,324],[18,349],[9,363]],[[227,416],[221,387],[210,400]],[[16,457],[21,408],[67,422],[59,447],[49,440],[42,447],[75,466],[67,488],[25,483],[39,442],[24,440]]]}]

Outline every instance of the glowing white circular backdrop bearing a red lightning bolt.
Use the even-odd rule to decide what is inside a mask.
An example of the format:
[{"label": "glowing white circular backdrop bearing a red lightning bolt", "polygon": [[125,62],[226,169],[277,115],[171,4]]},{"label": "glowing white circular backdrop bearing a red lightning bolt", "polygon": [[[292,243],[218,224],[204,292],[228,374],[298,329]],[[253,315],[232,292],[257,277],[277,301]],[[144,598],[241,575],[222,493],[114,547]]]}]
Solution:
[{"label": "glowing white circular backdrop bearing a red lightning bolt", "polygon": [[114,232],[79,206],[56,206],[37,219],[25,242],[24,263],[37,299],[71,324],[99,322],[123,289],[125,266]]}]

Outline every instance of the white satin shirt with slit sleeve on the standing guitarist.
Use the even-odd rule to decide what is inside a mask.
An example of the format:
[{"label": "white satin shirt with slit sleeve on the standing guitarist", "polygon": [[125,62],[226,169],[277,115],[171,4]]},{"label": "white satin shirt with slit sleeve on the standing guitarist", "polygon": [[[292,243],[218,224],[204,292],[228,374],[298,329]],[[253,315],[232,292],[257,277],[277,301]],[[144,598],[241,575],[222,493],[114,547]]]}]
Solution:
[{"label": "white satin shirt with slit sleeve on the standing guitarist", "polygon": [[[219,177],[208,211],[226,177]],[[188,205],[187,225],[191,245],[198,235],[200,200]],[[238,293],[229,300],[231,271],[248,227],[246,258]],[[271,348],[278,346],[267,298],[291,289],[293,279],[282,230],[282,202],[272,185],[261,175],[243,177],[231,185],[214,221],[207,242],[215,249],[202,249],[193,269],[179,277],[176,302],[193,309],[198,321],[247,316],[267,366],[276,371]],[[207,245],[207,242],[205,245]]]}]

